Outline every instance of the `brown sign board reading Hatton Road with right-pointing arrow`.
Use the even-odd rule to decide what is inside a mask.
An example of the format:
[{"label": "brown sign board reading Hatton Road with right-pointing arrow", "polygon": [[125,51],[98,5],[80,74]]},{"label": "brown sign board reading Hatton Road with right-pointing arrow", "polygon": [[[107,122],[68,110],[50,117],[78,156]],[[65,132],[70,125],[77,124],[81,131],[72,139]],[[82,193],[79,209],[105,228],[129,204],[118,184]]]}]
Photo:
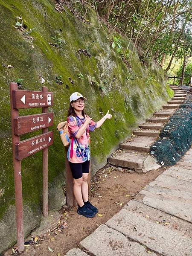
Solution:
[{"label": "brown sign board reading Hatton Road with right-pointing arrow", "polygon": [[53,125],[53,113],[18,116],[14,119],[14,134],[22,135]]}]

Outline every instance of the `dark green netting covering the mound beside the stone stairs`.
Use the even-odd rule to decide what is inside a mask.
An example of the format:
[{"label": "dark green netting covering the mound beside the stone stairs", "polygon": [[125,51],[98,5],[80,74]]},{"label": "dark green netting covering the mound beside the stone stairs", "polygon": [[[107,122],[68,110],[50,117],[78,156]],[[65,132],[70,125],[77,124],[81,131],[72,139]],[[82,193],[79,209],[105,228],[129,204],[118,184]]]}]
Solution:
[{"label": "dark green netting covering the mound beside the stone stairs", "polygon": [[180,105],[160,132],[150,152],[162,166],[172,166],[192,145],[192,96]]}]

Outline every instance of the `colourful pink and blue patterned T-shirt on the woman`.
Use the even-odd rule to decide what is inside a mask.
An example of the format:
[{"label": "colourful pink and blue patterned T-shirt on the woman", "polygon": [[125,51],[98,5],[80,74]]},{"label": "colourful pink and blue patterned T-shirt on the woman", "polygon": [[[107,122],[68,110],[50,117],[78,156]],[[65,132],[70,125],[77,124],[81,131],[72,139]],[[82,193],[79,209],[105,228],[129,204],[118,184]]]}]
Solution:
[{"label": "colourful pink and blue patterned T-shirt on the woman", "polygon": [[76,121],[72,116],[67,117],[68,129],[71,138],[71,143],[67,152],[67,159],[71,163],[83,163],[90,160],[90,147],[89,147],[89,132],[94,131],[97,123],[91,120],[87,125],[86,131],[82,134],[81,138],[77,139],[76,134],[79,128],[84,124],[85,119],[76,116]]}]

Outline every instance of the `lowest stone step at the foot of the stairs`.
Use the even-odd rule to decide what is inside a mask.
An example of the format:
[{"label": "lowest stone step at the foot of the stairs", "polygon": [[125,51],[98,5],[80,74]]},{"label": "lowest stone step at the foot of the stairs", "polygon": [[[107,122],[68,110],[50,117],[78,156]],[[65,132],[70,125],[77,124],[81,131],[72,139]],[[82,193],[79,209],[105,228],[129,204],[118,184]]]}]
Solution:
[{"label": "lowest stone step at the foot of the stairs", "polygon": [[148,153],[126,150],[118,152],[117,154],[109,157],[108,163],[130,169],[141,170],[143,167],[143,162],[147,157]]}]

